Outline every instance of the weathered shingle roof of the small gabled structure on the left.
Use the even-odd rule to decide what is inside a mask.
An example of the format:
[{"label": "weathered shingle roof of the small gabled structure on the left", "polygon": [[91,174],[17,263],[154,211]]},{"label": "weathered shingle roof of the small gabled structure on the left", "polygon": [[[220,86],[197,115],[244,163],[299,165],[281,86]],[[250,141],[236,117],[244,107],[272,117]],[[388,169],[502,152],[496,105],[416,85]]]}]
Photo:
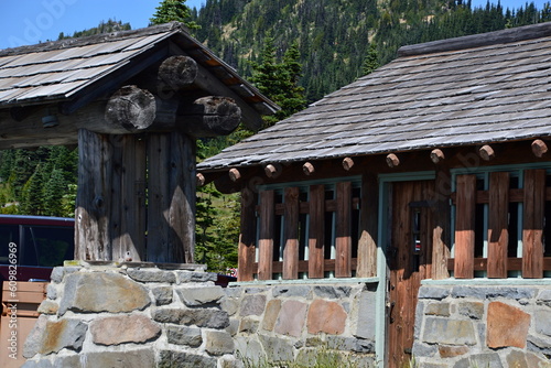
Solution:
[{"label": "weathered shingle roof of the small gabled structure on the left", "polygon": [[[278,109],[176,22],[0,50],[0,108],[61,101],[86,95],[89,87],[98,82],[109,82],[120,68],[143,62],[140,58],[153,48],[158,52],[158,48],[164,47],[163,42],[169,39],[260,113]],[[169,53],[168,45],[159,51],[159,57],[163,52]],[[148,62],[156,59],[150,57]],[[134,71],[138,72],[141,69]],[[127,72],[125,77],[131,77],[131,74]]]}]

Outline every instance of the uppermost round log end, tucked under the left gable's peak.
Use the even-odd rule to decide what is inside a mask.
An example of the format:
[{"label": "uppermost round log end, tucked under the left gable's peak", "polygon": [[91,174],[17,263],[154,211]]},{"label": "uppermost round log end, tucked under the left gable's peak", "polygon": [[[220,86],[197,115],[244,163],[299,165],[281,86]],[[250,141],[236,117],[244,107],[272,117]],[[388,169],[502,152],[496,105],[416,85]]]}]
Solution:
[{"label": "uppermost round log end, tucked under the left gable's peak", "polygon": [[172,90],[180,90],[193,85],[197,77],[197,63],[190,56],[171,56],[159,67],[158,89],[169,87]]}]

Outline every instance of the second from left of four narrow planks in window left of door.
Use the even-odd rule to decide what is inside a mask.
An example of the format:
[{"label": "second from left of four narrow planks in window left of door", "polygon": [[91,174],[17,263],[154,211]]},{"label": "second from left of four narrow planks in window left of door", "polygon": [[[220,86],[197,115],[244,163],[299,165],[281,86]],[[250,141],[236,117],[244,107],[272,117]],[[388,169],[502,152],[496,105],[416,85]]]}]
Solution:
[{"label": "second from left of four narrow planks in window left of door", "polygon": [[284,194],[283,279],[299,278],[299,188],[287,187]]}]

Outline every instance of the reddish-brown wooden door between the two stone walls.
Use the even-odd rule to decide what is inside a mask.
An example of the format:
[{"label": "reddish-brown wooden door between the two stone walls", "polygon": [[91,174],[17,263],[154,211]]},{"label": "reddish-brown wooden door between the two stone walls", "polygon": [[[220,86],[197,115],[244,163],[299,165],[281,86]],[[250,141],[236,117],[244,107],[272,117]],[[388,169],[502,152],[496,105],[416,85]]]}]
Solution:
[{"label": "reddish-brown wooden door between the two stone walls", "polygon": [[391,188],[387,250],[389,367],[409,367],[411,359],[418,291],[421,280],[431,274],[433,188],[432,181],[398,182]]}]

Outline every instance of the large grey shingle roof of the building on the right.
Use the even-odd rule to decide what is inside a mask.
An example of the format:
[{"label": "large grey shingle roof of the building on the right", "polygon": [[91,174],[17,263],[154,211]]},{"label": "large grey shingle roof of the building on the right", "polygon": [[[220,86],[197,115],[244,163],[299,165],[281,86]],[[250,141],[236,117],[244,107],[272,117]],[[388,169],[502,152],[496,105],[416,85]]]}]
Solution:
[{"label": "large grey shingle roof of the building on the right", "polygon": [[551,23],[399,57],[201,163],[203,171],[551,134]]}]

